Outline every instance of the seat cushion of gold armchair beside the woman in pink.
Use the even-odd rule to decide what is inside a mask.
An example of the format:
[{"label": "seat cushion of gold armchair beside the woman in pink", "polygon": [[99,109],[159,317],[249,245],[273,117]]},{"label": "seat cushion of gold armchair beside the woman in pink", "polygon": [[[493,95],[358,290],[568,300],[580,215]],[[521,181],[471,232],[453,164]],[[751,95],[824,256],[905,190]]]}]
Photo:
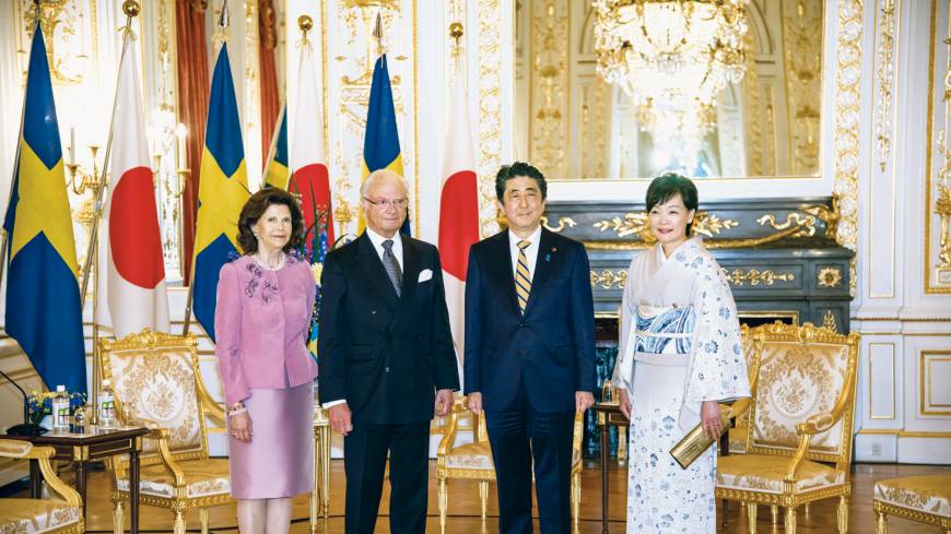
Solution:
[{"label": "seat cushion of gold armchair beside the woman in pink", "polygon": [[[224,459],[178,462],[185,473],[186,496],[189,499],[231,493],[228,464]],[[162,464],[143,465],[139,470],[139,491],[156,497],[175,497],[172,475]],[[129,490],[129,479],[119,478],[121,491]]]}]

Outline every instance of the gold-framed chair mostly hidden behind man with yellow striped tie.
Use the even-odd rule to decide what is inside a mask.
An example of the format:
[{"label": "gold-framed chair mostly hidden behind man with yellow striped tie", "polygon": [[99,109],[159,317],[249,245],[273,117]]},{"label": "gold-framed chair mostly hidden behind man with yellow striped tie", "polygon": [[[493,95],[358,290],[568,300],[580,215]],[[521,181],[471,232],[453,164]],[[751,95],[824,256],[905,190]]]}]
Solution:
[{"label": "gold-framed chair mostly hidden behind man with yellow striped tie", "polygon": [[[582,424],[584,414],[575,414],[572,435],[572,518],[578,523],[582,506]],[[472,442],[455,447],[456,435],[460,430],[472,431]],[[439,532],[446,532],[446,512],[449,505],[448,480],[462,478],[479,480],[479,500],[482,506],[482,521],[489,506],[489,483],[495,480],[495,464],[492,462],[492,448],[485,430],[485,417],[480,417],[466,407],[466,397],[457,399],[449,412],[439,448],[436,450],[436,480],[439,493]]]}]

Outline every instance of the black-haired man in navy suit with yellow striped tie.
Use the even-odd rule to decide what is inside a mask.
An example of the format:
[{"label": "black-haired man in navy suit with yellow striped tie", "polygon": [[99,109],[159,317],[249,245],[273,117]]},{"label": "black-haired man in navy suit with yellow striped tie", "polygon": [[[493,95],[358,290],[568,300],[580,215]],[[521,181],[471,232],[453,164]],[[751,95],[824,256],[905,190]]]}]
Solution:
[{"label": "black-haired man in navy suit with yellow striped tie", "polygon": [[529,164],[498,170],[508,229],[472,246],[466,274],[466,394],[485,413],[505,534],[532,532],[532,460],[541,532],[571,531],[572,426],[595,403],[588,254],[541,227],[547,192]]}]

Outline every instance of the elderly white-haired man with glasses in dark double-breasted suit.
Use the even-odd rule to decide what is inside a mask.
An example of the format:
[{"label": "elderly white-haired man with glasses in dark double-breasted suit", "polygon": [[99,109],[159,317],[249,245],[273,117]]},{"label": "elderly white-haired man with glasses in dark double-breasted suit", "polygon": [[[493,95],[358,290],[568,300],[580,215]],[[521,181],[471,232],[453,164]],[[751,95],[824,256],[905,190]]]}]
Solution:
[{"label": "elderly white-haired man with glasses in dark double-breasted suit", "polygon": [[436,247],[399,234],[402,177],[361,188],[366,232],[327,254],[320,277],[320,401],[343,438],[347,534],[374,532],[389,453],[390,532],[426,527],[430,422],[459,372]]}]

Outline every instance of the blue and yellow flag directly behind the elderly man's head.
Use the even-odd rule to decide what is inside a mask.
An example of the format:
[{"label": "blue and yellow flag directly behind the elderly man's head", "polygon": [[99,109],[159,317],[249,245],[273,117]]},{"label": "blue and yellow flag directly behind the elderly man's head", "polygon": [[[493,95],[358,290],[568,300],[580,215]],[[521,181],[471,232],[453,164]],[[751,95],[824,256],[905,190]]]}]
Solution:
[{"label": "blue and yellow flag directly behind the elderly man's head", "polygon": [[[369,106],[366,110],[366,132],[363,138],[363,182],[374,170],[390,169],[403,176],[403,157],[400,154],[400,138],[396,126],[396,109],[392,104],[392,87],[386,54],[373,67],[373,83],[369,86]],[[360,228],[366,226],[363,212],[360,214]],[[410,235],[409,209],[407,219],[400,232]]]}]

